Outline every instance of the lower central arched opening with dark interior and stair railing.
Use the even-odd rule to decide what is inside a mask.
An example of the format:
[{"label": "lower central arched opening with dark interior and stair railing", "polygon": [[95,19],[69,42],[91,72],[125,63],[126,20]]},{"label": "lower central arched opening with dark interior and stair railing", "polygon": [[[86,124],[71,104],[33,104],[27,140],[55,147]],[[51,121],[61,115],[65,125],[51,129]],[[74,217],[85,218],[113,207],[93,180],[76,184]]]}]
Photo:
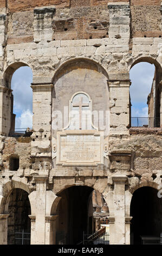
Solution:
[{"label": "lower central arched opening with dark interior and stair railing", "polygon": [[[84,241],[90,242],[90,244],[98,244],[101,242],[101,236],[102,243],[108,242],[106,227],[101,227],[101,219],[109,215],[108,210],[104,211],[103,209],[103,206],[107,205],[102,202],[103,196],[99,192],[97,192],[98,203],[96,204],[93,191],[92,187],[72,186],[57,194],[57,196],[61,197],[61,200],[57,206],[56,213],[58,215],[56,221],[56,244],[86,244]],[[98,221],[99,219],[100,221]],[[94,234],[96,234],[95,239]],[[92,235],[93,239],[87,241],[87,237]]]}]

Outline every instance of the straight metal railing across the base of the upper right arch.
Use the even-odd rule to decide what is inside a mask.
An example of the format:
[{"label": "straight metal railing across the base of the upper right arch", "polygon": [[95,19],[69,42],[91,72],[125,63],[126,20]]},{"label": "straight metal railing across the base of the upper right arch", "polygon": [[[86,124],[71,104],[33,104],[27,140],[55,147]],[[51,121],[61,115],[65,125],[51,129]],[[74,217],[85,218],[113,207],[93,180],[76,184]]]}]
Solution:
[{"label": "straight metal railing across the base of the upper right arch", "polygon": [[131,127],[160,127],[159,117],[131,117]]}]

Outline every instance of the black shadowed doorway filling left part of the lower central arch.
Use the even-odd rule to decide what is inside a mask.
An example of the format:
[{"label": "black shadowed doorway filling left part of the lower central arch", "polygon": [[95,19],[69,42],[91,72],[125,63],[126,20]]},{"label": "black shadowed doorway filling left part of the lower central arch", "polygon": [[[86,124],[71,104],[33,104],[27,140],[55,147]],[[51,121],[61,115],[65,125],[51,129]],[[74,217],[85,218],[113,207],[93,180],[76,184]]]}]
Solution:
[{"label": "black shadowed doorway filling left part of the lower central arch", "polygon": [[73,186],[57,195],[62,197],[57,208],[57,234],[61,235],[62,243],[76,245],[83,240],[83,231],[92,234],[92,191],[91,187]]}]

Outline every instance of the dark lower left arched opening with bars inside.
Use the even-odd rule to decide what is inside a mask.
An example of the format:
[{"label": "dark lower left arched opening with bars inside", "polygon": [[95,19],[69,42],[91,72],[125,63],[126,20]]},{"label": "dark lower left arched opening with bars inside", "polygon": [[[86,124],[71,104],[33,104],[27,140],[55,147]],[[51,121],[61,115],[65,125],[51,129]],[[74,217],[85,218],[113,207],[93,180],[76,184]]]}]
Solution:
[{"label": "dark lower left arched opening with bars inside", "polygon": [[14,188],[10,192],[8,214],[8,245],[29,245],[31,209],[26,191]]}]

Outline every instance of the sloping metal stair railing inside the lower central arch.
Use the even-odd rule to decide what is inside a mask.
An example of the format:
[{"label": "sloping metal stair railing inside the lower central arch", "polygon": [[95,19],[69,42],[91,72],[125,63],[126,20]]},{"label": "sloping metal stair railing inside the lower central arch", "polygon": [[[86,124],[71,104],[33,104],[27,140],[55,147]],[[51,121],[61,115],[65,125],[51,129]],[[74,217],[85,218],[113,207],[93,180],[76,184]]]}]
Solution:
[{"label": "sloping metal stair railing inside the lower central arch", "polygon": [[83,232],[83,245],[109,245],[106,227],[101,228],[94,234],[85,234]]}]

